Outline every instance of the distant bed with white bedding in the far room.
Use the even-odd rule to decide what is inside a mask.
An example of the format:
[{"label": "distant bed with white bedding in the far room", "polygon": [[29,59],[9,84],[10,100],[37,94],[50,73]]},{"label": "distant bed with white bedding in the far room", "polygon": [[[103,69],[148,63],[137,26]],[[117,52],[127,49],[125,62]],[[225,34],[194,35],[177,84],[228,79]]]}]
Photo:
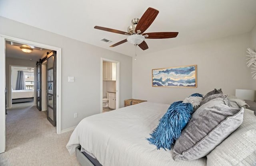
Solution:
[{"label": "distant bed with white bedding in the far room", "polygon": [[34,90],[12,90],[12,103],[30,102],[34,100]]}]

